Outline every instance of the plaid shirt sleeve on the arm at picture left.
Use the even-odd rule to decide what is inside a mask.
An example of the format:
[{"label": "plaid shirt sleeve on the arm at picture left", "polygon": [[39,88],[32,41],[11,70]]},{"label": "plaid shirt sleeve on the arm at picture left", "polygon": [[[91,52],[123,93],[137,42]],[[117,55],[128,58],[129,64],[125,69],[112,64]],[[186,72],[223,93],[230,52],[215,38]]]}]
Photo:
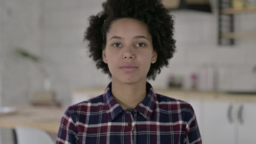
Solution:
[{"label": "plaid shirt sleeve on the arm at picture left", "polygon": [[61,117],[56,144],[78,144],[77,127],[72,120],[69,109]]}]

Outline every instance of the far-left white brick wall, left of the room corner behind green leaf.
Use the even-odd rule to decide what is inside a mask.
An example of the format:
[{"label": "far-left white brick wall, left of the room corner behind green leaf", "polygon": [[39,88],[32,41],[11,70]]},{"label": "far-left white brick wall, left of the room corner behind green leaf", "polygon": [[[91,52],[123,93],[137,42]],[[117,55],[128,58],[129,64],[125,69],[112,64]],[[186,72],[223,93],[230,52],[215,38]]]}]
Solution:
[{"label": "far-left white brick wall, left of the room corner behind green leaf", "polygon": [[2,104],[27,104],[40,79],[32,63],[14,51],[20,47],[40,54],[40,0],[1,0],[0,9]]}]

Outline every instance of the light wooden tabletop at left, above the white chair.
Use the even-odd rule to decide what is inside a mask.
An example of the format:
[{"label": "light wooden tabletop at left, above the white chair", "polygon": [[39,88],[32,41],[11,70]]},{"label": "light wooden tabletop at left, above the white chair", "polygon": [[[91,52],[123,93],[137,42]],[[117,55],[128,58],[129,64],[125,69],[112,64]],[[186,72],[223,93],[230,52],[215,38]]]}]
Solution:
[{"label": "light wooden tabletop at left, above the white chair", "polygon": [[49,133],[58,133],[59,125],[65,109],[46,107],[18,108],[10,115],[0,115],[0,127],[14,128],[26,126],[39,128]]}]

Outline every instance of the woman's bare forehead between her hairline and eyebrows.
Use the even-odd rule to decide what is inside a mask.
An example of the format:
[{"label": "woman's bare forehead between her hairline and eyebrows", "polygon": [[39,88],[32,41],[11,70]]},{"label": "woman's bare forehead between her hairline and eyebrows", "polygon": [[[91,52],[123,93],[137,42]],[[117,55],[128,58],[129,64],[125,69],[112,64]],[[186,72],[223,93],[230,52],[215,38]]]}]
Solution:
[{"label": "woman's bare forehead between her hairline and eyebrows", "polygon": [[150,39],[151,35],[147,24],[132,18],[122,18],[112,22],[109,31],[107,32],[107,39],[112,36],[129,38],[136,35],[144,35]]}]

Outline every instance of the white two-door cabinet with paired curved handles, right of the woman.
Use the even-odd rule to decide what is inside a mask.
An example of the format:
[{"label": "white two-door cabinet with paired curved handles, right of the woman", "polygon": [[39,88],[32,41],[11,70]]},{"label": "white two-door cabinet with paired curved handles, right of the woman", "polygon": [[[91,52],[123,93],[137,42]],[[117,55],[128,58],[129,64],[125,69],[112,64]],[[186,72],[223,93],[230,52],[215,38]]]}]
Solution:
[{"label": "white two-door cabinet with paired curved handles, right of the woman", "polygon": [[255,144],[256,102],[203,101],[205,144]]}]

